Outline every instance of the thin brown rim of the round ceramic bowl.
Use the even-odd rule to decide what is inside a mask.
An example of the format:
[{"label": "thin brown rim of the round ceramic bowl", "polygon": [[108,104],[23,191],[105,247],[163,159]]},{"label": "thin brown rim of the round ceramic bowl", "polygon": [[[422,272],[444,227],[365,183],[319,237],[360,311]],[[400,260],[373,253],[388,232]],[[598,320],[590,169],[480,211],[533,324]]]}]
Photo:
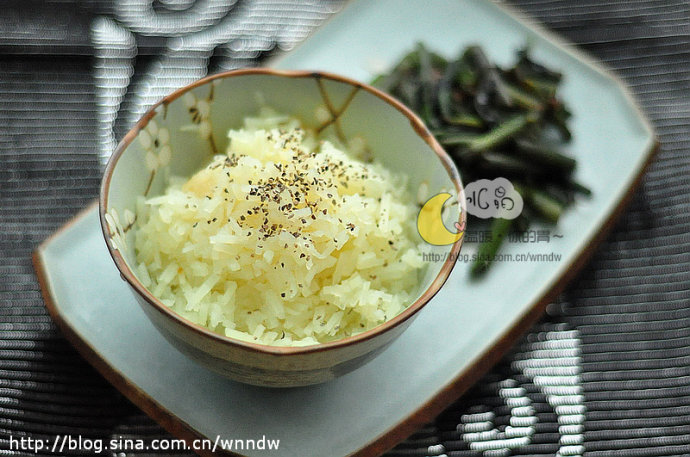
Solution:
[{"label": "thin brown rim of the round ceramic bowl", "polygon": [[[443,265],[441,266],[441,269],[439,270],[439,273],[436,275],[434,280],[431,282],[431,285],[424,290],[424,292],[417,298],[412,304],[410,304],[407,308],[405,308],[402,312],[400,312],[398,315],[393,317],[392,319],[383,322],[382,324],[379,324],[365,332],[358,333],[356,335],[348,336],[345,338],[341,338],[338,340],[334,341],[329,341],[326,343],[318,343],[318,344],[312,344],[308,346],[272,346],[272,345],[267,345],[267,344],[260,344],[260,343],[253,343],[249,341],[243,341],[231,337],[227,337],[225,335],[221,335],[218,333],[215,333],[211,331],[210,329],[203,327],[199,324],[196,324],[181,315],[179,315],[177,312],[173,311],[172,309],[168,308],[161,302],[158,298],[156,298],[134,275],[132,270],[129,268],[127,265],[127,262],[125,261],[124,257],[120,253],[119,250],[115,249],[112,246],[112,243],[110,242],[110,233],[109,233],[109,228],[108,224],[105,219],[105,210],[108,208],[108,193],[110,190],[110,182],[111,178],[113,175],[113,172],[115,170],[115,167],[117,165],[117,162],[119,159],[122,157],[124,151],[129,147],[129,145],[134,141],[134,139],[137,137],[139,132],[146,127],[148,122],[157,114],[158,108],[160,106],[165,106],[171,103],[172,101],[180,98],[183,96],[185,93],[189,92],[190,90],[203,86],[205,84],[212,83],[215,80],[218,79],[225,79],[225,78],[232,78],[232,77],[240,77],[240,76],[247,76],[247,75],[269,75],[269,76],[278,76],[278,77],[286,77],[286,78],[314,78],[314,79],[327,79],[331,81],[336,81],[344,84],[351,85],[353,87],[356,87],[358,89],[364,90],[366,92],[369,92],[370,94],[382,99],[384,102],[388,103],[395,109],[397,109],[399,112],[401,112],[405,117],[407,117],[410,121],[411,127],[415,130],[417,135],[419,135],[424,142],[426,142],[429,147],[436,153],[436,156],[438,159],[441,161],[441,164],[445,168],[446,172],[448,173],[450,180],[453,182],[455,185],[455,190],[458,195],[458,201],[464,202],[465,201],[465,193],[462,185],[462,181],[460,178],[460,173],[458,172],[458,169],[456,168],[455,164],[451,160],[450,156],[446,151],[441,147],[439,142],[434,138],[434,136],[431,134],[429,129],[426,127],[424,122],[419,118],[415,113],[413,113],[407,106],[403,105],[400,101],[392,97],[391,95],[386,94],[385,92],[376,89],[373,86],[370,86],[365,83],[361,83],[359,81],[355,81],[351,78],[348,78],[346,76],[338,75],[335,73],[330,73],[330,72],[325,72],[325,71],[310,71],[310,70],[277,70],[273,68],[263,68],[263,67],[253,67],[253,68],[243,68],[243,69],[238,69],[238,70],[230,70],[230,71],[224,71],[220,73],[215,73],[213,75],[206,76],[204,78],[201,78],[197,81],[194,81],[190,84],[187,84],[179,89],[176,89],[172,93],[168,94],[167,96],[163,97],[161,100],[153,104],[148,111],[137,121],[137,123],[127,132],[127,134],[122,138],[122,140],[119,142],[115,150],[113,151],[112,155],[110,156],[108,163],[105,167],[104,173],[103,173],[103,178],[101,180],[101,187],[100,187],[100,192],[99,192],[99,198],[98,198],[98,215],[99,219],[101,222],[101,231],[103,233],[103,236],[105,238],[106,245],[108,247],[108,252],[110,253],[110,256],[112,257],[113,261],[115,262],[115,265],[117,266],[118,270],[120,271],[120,276],[122,277],[123,280],[125,280],[129,285],[134,289],[134,291],[141,296],[144,301],[151,305],[153,309],[157,310],[161,314],[163,314],[165,317],[168,319],[172,319],[175,321],[177,324],[182,325],[183,327],[186,327],[187,329],[197,333],[199,336],[210,338],[212,340],[215,340],[216,342],[222,344],[222,345],[227,345],[227,346],[234,346],[239,349],[244,349],[244,350],[249,350],[252,352],[256,353],[264,353],[264,354],[270,354],[270,355],[300,355],[300,354],[308,354],[308,353],[315,353],[315,352],[322,352],[322,351],[327,351],[327,350],[332,350],[336,348],[342,348],[346,346],[351,346],[363,341],[370,340],[378,335],[387,333],[388,331],[394,329],[395,327],[398,327],[400,324],[403,322],[407,321],[414,315],[416,315],[441,289],[443,284],[445,284],[446,280],[450,276],[450,273],[455,266],[456,260],[458,258],[458,254],[460,252],[460,248],[462,246],[462,243],[465,239],[464,236],[460,237],[459,240],[457,240],[455,243],[452,244],[451,250],[446,257]],[[460,211],[459,214],[459,219],[458,222],[460,223],[461,226],[464,226],[467,220],[467,211],[464,210],[464,205],[461,203],[461,207],[463,208],[462,211]]]}]

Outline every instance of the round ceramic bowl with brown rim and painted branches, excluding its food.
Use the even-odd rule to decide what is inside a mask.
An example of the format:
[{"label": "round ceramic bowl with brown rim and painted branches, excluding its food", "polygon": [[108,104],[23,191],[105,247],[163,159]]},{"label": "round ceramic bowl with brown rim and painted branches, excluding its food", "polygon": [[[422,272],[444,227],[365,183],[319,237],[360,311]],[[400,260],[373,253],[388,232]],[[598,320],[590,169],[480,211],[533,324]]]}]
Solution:
[{"label": "round ceramic bowl with brown rim and painted branches, excluding its food", "polygon": [[[420,186],[428,195],[446,191],[459,201],[464,195],[457,169],[417,116],[370,86],[328,73],[246,69],[209,76],[165,97],[127,133],[106,167],[99,211],[110,254],[148,318],[181,352],[228,378],[274,387],[315,384],[364,364],[400,335],[448,278],[461,241],[429,246],[446,260],[429,263],[416,300],[402,313],[341,340],[304,347],[253,344],[176,314],[133,271],[136,200],[162,193],[170,176],[191,176],[212,154],[223,153],[228,129],[262,106],[346,137],[364,137],[375,160],[409,176],[415,195]],[[464,218],[464,211],[455,211],[446,225]]]}]

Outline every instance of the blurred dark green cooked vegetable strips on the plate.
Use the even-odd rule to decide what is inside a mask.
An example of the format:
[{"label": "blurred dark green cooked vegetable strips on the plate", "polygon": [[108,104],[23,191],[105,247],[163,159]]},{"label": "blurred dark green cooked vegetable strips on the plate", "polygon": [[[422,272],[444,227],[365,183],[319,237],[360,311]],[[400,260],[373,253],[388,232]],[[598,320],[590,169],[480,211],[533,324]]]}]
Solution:
[{"label": "blurred dark green cooked vegetable strips on the plate", "polygon": [[576,194],[590,194],[573,179],[576,160],[559,151],[571,139],[570,112],[557,94],[561,79],[526,49],[504,69],[478,46],[449,61],[420,43],[372,82],[426,122],[466,183],[504,177],[522,196],[516,219],[493,219],[473,276],[487,271],[511,231],[525,231],[536,220],[555,224]]}]

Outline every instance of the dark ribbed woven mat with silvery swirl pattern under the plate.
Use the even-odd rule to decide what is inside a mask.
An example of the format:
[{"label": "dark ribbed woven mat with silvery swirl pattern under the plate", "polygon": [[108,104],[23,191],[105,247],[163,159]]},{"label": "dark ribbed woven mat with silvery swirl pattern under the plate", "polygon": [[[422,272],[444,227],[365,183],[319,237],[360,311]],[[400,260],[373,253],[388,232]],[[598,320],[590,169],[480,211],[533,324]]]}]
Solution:
[{"label": "dark ribbed woven mat with silvery swirl pattern under the plate", "polygon": [[[154,7],[191,3],[157,0]],[[690,455],[690,4],[511,3],[616,70],[654,123],[661,152],[630,209],[542,323],[477,387],[387,455]],[[168,52],[166,38],[136,21],[134,33],[119,33],[111,26],[129,23],[114,5],[47,0],[6,2],[0,10],[3,455],[16,453],[10,436],[167,436],[62,339],[30,261],[39,242],[96,197],[109,128],[121,135],[138,106],[157,97],[147,83],[162,77],[152,62]],[[227,34],[231,45],[171,56],[171,66],[189,70],[171,84],[195,78],[198,65],[233,68],[289,48],[339,5],[240,0],[227,13],[219,6],[219,18],[253,12],[298,26],[286,34],[240,22]],[[104,19],[95,29],[98,17],[119,22]],[[132,36],[139,52],[129,68]],[[134,76],[123,83],[122,72]]]}]

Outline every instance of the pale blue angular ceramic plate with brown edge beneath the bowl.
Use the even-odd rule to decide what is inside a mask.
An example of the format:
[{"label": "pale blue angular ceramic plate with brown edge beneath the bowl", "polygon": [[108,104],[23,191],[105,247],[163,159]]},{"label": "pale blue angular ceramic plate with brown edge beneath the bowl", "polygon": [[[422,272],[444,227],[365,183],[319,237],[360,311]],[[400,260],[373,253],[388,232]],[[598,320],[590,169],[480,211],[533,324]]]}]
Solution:
[{"label": "pale blue angular ceramic plate with brown edge beneath the bowl", "polygon": [[[281,68],[327,70],[362,81],[416,41],[455,55],[479,43],[509,63],[529,43],[536,59],[566,75],[574,116],[577,179],[593,191],[552,229],[549,241],[508,243],[479,282],[457,265],[410,328],[374,361],[335,381],[294,390],[237,384],[200,368],[152,327],[120,281],[88,209],[37,251],[49,310],[70,340],[116,387],[173,433],[280,440],[280,451],[243,455],[377,455],[466,390],[542,312],[610,228],[651,160],[655,138],[621,83],[534,25],[479,0],[354,1]],[[471,227],[468,228],[471,230]],[[463,248],[472,253],[471,243]],[[202,452],[203,453],[203,452]]]}]

